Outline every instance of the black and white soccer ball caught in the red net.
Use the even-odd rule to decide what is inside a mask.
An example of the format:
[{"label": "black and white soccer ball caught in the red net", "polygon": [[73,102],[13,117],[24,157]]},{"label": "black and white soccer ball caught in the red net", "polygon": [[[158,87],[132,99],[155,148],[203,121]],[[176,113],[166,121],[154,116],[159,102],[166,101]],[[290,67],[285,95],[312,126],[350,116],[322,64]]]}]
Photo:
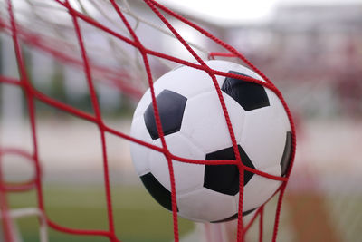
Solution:
[{"label": "black and white soccer ball caught in the red net", "polygon": [[[236,63],[208,61],[217,71],[262,77]],[[291,125],[280,99],[260,84],[216,75],[243,164],[284,176],[291,160]],[[233,143],[212,78],[205,71],[178,67],[154,83],[168,150],[193,160],[235,160]],[[148,90],[134,113],[131,135],[162,147]],[[131,144],[136,171],[148,192],[168,210],[171,185],[162,152]],[[202,222],[238,217],[239,170],[236,165],[199,165],[173,160],[179,216]],[[243,216],[264,204],[281,185],[245,171]]]}]

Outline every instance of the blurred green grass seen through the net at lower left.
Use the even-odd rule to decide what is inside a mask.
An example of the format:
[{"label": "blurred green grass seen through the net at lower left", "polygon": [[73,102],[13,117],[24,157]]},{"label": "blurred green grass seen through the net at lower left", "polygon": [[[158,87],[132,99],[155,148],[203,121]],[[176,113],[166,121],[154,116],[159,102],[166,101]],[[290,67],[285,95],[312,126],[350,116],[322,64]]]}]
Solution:
[{"label": "blurred green grass seen through the net at lower left", "polygon": [[[47,186],[43,188],[46,213],[58,225],[79,229],[107,229],[105,191],[97,186]],[[124,242],[171,241],[172,214],[157,204],[146,189],[112,188],[113,215],[118,237]],[[15,193],[9,196],[12,208],[36,207],[36,193]],[[179,218],[180,236],[190,232],[194,224]],[[18,218],[24,242],[39,241],[38,218]],[[109,241],[104,237],[74,236],[49,228],[52,242]]]}]

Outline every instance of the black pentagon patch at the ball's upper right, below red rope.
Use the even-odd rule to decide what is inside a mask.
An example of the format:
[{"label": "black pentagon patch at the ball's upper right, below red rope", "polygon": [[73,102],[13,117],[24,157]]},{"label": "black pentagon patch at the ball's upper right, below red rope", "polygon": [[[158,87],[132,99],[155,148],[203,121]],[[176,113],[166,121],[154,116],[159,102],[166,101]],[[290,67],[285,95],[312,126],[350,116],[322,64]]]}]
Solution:
[{"label": "black pentagon patch at the ball's upper right, below red rope", "polygon": [[[229,73],[248,76],[233,71]],[[245,111],[270,106],[264,87],[254,82],[244,82],[243,80],[226,77],[221,90],[238,102]]]}]

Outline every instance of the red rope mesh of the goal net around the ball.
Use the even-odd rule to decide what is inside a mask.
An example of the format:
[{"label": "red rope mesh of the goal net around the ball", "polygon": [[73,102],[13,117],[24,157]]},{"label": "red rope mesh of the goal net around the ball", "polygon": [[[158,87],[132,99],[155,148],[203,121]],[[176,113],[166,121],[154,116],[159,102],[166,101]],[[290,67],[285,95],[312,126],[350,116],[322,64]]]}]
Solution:
[{"label": "red rope mesh of the goal net around the ball", "polygon": [[[109,163],[108,163],[108,157],[107,157],[107,143],[105,139],[105,134],[110,133],[112,135],[118,136],[121,139],[126,139],[131,142],[136,142],[140,145],[143,145],[145,147],[148,147],[149,149],[157,150],[158,152],[162,152],[165,157],[167,158],[168,162],[168,168],[169,168],[169,175],[171,180],[171,194],[172,194],[172,209],[173,209],[173,222],[174,222],[174,237],[175,241],[179,241],[178,236],[178,224],[177,224],[177,212],[176,212],[176,187],[175,187],[175,176],[174,176],[174,169],[173,164],[171,160],[178,160],[181,162],[188,162],[188,163],[195,163],[195,164],[233,164],[237,165],[239,169],[240,174],[240,197],[239,197],[239,217],[238,217],[238,226],[237,226],[237,241],[243,241],[245,232],[251,227],[252,223],[255,221],[256,218],[259,219],[259,227],[260,227],[260,241],[262,241],[262,221],[263,221],[263,206],[258,209],[258,211],[255,213],[255,216],[252,218],[252,220],[247,224],[243,224],[243,172],[245,170],[253,172],[255,174],[258,174],[262,177],[268,178],[268,179],[275,179],[275,180],[281,180],[281,187],[277,190],[276,195],[279,196],[278,198],[278,204],[277,209],[275,213],[275,222],[274,222],[274,229],[273,229],[273,237],[272,241],[276,241],[277,239],[277,233],[278,233],[278,225],[279,225],[279,219],[280,219],[280,213],[281,213],[281,202],[282,197],[284,195],[284,190],[286,188],[290,173],[291,173],[291,167],[292,167],[292,160],[294,160],[295,155],[295,148],[296,148],[296,142],[295,142],[295,128],[294,124],[291,118],[291,112],[289,111],[286,102],[284,101],[281,92],[273,85],[273,83],[261,72],[259,71],[251,62],[249,62],[242,53],[239,53],[236,51],[232,46],[229,44],[224,43],[223,41],[219,40],[218,38],[214,37],[213,34],[208,33],[203,28],[198,26],[197,24],[194,24],[190,21],[188,21],[185,17],[181,15],[177,15],[175,12],[167,9],[164,5],[158,4],[154,0],[144,0],[146,5],[148,5],[149,9],[157,15],[157,17],[162,21],[163,24],[167,26],[167,28],[171,31],[171,33],[176,37],[177,41],[179,41],[181,44],[185,46],[187,51],[192,54],[192,56],[197,61],[196,63],[187,62],[185,60],[182,60],[180,58],[176,58],[175,56],[168,55],[166,53],[160,53],[156,52],[152,49],[147,48],[142,42],[138,39],[138,35],[136,34],[135,30],[132,29],[131,25],[129,24],[128,19],[124,15],[124,13],[119,8],[119,5],[116,3],[115,0],[110,0],[110,5],[112,5],[114,11],[119,16],[119,23],[124,24],[124,26],[127,28],[129,35],[126,36],[125,34],[119,34],[110,28],[106,27],[103,24],[100,24],[96,20],[90,18],[87,15],[82,14],[81,12],[78,12],[76,9],[74,9],[70,2],[68,0],[54,0],[56,4],[58,4],[60,7],[63,7],[67,9],[69,15],[71,15],[71,20],[73,24],[73,29],[76,34],[77,40],[78,40],[78,46],[80,49],[80,56],[81,61],[76,61],[74,59],[71,59],[66,54],[57,51],[55,48],[51,48],[47,46],[46,44],[43,44],[41,39],[36,38],[34,35],[24,31],[24,29],[17,23],[17,20],[15,18],[14,14],[14,3],[12,0],[6,0],[6,8],[9,15],[9,20],[6,20],[3,18],[3,16],[0,16],[0,24],[1,29],[5,34],[9,34],[12,37],[13,43],[14,43],[14,52],[17,60],[18,65],[18,71],[20,75],[19,80],[15,80],[14,78],[10,78],[7,76],[0,76],[0,82],[2,84],[6,85],[14,85],[18,86],[24,91],[25,99],[26,99],[26,105],[28,109],[28,115],[29,115],[29,121],[31,125],[31,132],[32,132],[32,140],[33,140],[33,153],[28,153],[25,150],[18,150],[16,148],[5,148],[0,147],[0,162],[1,158],[5,156],[5,154],[17,154],[22,157],[25,157],[27,160],[30,160],[33,163],[33,166],[35,167],[35,177],[33,180],[30,180],[24,184],[7,184],[4,180],[4,174],[3,170],[1,169],[1,163],[0,163],[0,205],[1,205],[1,212],[2,212],[2,220],[3,220],[3,230],[5,232],[5,241],[14,241],[14,237],[11,231],[11,218],[9,217],[9,208],[6,200],[6,195],[10,192],[19,192],[19,191],[25,191],[29,189],[35,189],[37,194],[37,201],[38,201],[38,208],[43,212],[45,216],[45,221],[49,227],[52,227],[52,229],[61,231],[63,233],[69,233],[69,234],[76,234],[76,235],[88,235],[88,236],[100,236],[100,237],[108,237],[110,241],[120,241],[119,238],[116,236],[115,232],[115,226],[114,226],[114,219],[113,219],[113,212],[112,212],[112,198],[111,198],[111,192],[110,192],[110,169],[109,169]],[[220,87],[218,86],[216,82],[215,75],[222,75],[225,77],[232,77],[232,78],[240,78],[237,75],[233,73],[223,73],[219,71],[215,71],[211,68],[209,68],[204,60],[195,53],[194,49],[187,44],[186,40],[177,33],[176,29],[173,27],[172,24],[167,20],[166,15],[169,15],[173,18],[175,18],[177,21],[180,21],[184,24],[187,24],[189,27],[195,29],[195,31],[199,32],[200,34],[205,35],[208,39],[213,41],[215,44],[219,45],[221,48],[224,49],[223,53],[211,53],[210,56],[229,56],[229,57],[236,57],[237,59],[243,61],[243,63],[247,64],[255,73],[258,73],[262,76],[262,78],[266,82],[261,82],[259,80],[253,79],[251,77],[244,77],[244,81],[247,82],[256,82],[264,87],[270,89],[272,92],[274,92],[281,100],[282,105],[284,106],[285,110],[287,111],[289,120],[291,122],[291,131],[292,131],[292,154],[291,154],[291,166],[290,169],[285,177],[276,177],[272,176],[270,174],[264,173],[262,171],[251,169],[249,167],[246,167],[243,165],[241,161],[240,154],[238,152],[237,143],[235,140],[235,136],[233,133],[233,127],[230,121],[230,117],[228,114],[228,111],[226,109],[224,98],[222,95],[222,92],[220,90]],[[81,32],[81,24],[80,21],[90,24],[93,27],[97,28],[100,32],[105,32],[107,34],[112,35],[113,37],[117,38],[119,42],[123,42],[125,44],[129,44],[130,46],[133,46],[138,50],[138,53],[140,53],[142,57],[142,63],[144,64],[144,68],[147,73],[147,79],[148,79],[148,86],[151,91],[152,95],[152,105],[155,111],[155,117],[156,117],[156,123],[157,123],[157,131],[159,133],[159,137],[162,143],[162,147],[157,147],[154,145],[151,145],[149,143],[146,143],[142,140],[134,139],[133,137],[130,137],[129,135],[116,131],[109,126],[105,124],[105,122],[102,119],[102,115],[100,112],[100,103],[97,99],[95,85],[93,81],[93,74],[96,72],[101,73],[108,73],[111,72],[111,70],[102,69],[99,66],[92,65],[90,63],[90,58],[87,53],[87,48],[84,44],[83,35]],[[129,37],[130,36],[130,37]],[[94,113],[88,113],[85,111],[78,110],[70,105],[67,105],[65,103],[59,102],[55,99],[53,99],[50,96],[47,96],[43,94],[42,92],[39,92],[36,88],[33,87],[32,82],[30,82],[29,74],[27,73],[27,70],[25,68],[24,64],[24,53],[22,52],[22,46],[21,42],[25,42],[26,44],[30,44],[33,46],[36,46],[38,48],[41,48],[43,51],[52,53],[52,55],[57,58],[58,60],[61,60],[63,63],[69,63],[69,64],[76,64],[82,67],[82,70],[84,71],[84,74],[86,76],[87,84],[88,84],[88,90],[90,93],[90,99],[91,99],[91,105]],[[220,104],[224,111],[224,118],[227,123],[227,127],[230,133],[230,139],[233,141],[233,150],[235,154],[235,160],[190,160],[185,159],[182,157],[178,157],[174,154],[172,154],[167,149],[167,142],[165,141],[164,133],[161,128],[161,122],[159,118],[159,113],[157,110],[157,102],[155,97],[155,92],[153,88],[153,78],[152,78],[152,69],[150,67],[149,63],[149,57],[150,56],[156,56],[157,58],[165,59],[170,62],[174,63],[180,63],[184,65],[188,65],[190,67],[203,70],[205,73],[208,73],[209,76],[212,78],[215,86],[215,90],[217,91],[217,95],[220,100]],[[125,73],[119,73],[119,74],[125,74]],[[119,81],[119,80],[118,80]],[[121,92],[127,92],[132,96],[139,97],[140,91],[135,88],[133,85],[131,85],[128,82],[114,82],[114,84],[119,88]],[[100,131],[100,140],[101,140],[101,148],[102,148],[102,158],[103,158],[103,169],[104,169],[104,184],[105,184],[105,191],[106,191],[106,199],[107,199],[107,212],[108,212],[108,229],[107,230],[84,230],[84,229],[74,229],[71,227],[63,227],[59,224],[57,224],[55,221],[52,221],[50,218],[47,218],[47,213],[44,208],[44,200],[43,200],[43,190],[42,190],[42,170],[40,166],[39,161],[39,155],[38,155],[38,139],[37,139],[37,124],[35,121],[35,107],[34,102],[40,101],[47,105],[50,105],[56,109],[68,112],[72,114],[75,117],[78,117],[79,119],[90,121],[92,123],[95,123]]]}]

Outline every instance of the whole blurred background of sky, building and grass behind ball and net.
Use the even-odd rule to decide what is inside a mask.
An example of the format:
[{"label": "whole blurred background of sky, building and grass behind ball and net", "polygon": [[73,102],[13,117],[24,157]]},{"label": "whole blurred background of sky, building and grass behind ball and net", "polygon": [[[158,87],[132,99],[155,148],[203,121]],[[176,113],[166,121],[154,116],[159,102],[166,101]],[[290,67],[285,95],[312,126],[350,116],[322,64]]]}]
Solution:
[{"label": "whole blurred background of sky, building and grass behind ball and net", "polygon": [[[93,113],[71,16],[54,3],[13,2],[33,87],[72,108]],[[297,126],[297,156],[281,211],[279,240],[358,241],[362,228],[362,1],[159,2],[243,53],[289,104]],[[129,37],[104,1],[71,1],[71,5]],[[140,1],[120,5],[146,47],[194,61],[175,38],[162,32],[166,27],[147,5]],[[5,0],[0,0],[0,8],[0,76],[16,81],[20,75],[11,31],[6,28]],[[167,17],[204,59],[210,52],[224,51],[186,24]],[[139,53],[90,24],[80,22],[80,26],[102,118],[110,128],[127,134],[148,85]],[[175,67],[156,57],[149,59],[155,80]],[[66,227],[107,229],[97,125],[39,100],[34,104],[47,216]],[[7,184],[27,182],[35,174],[28,113],[22,89],[1,79],[0,170]],[[171,241],[171,215],[143,189],[132,167],[129,142],[110,133],[106,142],[117,235],[126,242]],[[24,154],[5,151],[9,149]],[[37,207],[34,189],[6,193],[6,200],[14,209]],[[273,199],[267,206],[265,241],[271,241],[275,204]],[[198,241],[195,237],[203,233],[202,228],[182,218],[179,221],[185,241]],[[23,241],[39,241],[36,216],[18,218],[14,227]],[[50,241],[108,241],[53,229],[48,233]],[[256,241],[257,235],[257,226],[252,227],[248,241]]]}]

